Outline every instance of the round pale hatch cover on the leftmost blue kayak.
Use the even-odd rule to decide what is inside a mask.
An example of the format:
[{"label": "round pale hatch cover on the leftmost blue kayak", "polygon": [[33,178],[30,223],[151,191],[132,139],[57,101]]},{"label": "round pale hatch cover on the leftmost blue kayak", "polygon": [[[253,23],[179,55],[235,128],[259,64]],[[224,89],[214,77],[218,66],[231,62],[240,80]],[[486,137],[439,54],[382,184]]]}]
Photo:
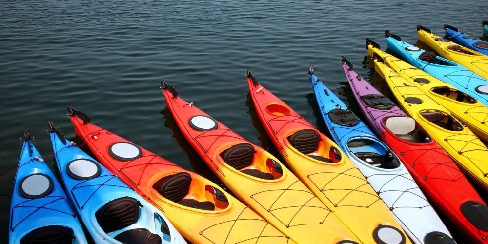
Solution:
[{"label": "round pale hatch cover on the leftmost blue kayak", "polygon": [[20,181],[19,192],[25,198],[40,198],[53,190],[53,179],[46,174],[32,174]]}]

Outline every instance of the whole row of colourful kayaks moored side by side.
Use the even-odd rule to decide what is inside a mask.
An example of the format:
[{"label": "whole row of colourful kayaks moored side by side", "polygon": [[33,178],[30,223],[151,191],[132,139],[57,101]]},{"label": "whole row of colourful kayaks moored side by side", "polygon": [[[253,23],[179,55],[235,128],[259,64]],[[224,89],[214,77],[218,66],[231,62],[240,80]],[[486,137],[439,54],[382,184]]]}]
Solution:
[{"label": "whole row of colourful kayaks moored side by side", "polygon": [[58,181],[26,131],[9,241],[454,243],[433,203],[469,241],[485,242],[488,208],[467,177],[488,191],[488,148],[481,141],[488,141],[486,46],[455,27],[445,29],[455,43],[417,27],[433,51],[386,31],[388,49],[402,59],[366,40],[370,61],[398,105],[342,58],[369,126],[310,66],[331,138],[248,70],[251,109],[286,166],[162,82],[183,137],[233,195],[68,106],[75,134],[93,157],[48,122]]}]

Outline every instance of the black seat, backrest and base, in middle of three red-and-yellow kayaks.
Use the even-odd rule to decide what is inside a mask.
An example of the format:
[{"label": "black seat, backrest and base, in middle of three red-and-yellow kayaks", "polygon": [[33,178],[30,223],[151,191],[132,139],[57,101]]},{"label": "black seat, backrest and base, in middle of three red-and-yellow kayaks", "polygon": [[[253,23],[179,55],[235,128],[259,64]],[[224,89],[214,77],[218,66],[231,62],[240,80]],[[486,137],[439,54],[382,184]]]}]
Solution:
[{"label": "black seat, backrest and base, in middle of three red-and-yellow kayaks", "polygon": [[240,170],[244,174],[264,180],[274,179],[271,173],[262,172],[258,169],[244,169],[245,167],[251,166],[255,153],[254,146],[249,143],[240,143],[224,150],[221,153],[221,157],[225,163]]}]

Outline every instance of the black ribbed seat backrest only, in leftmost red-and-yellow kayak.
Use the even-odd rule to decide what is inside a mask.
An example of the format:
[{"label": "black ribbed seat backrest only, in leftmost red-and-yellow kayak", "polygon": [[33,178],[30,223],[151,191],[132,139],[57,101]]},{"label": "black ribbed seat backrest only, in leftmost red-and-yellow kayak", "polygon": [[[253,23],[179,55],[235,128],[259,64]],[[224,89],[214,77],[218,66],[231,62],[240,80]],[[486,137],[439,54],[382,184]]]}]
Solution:
[{"label": "black ribbed seat backrest only, in leftmost red-and-yellow kayak", "polygon": [[164,179],[163,183],[158,189],[158,192],[166,199],[173,202],[178,202],[188,195],[190,184],[190,174],[180,172]]}]

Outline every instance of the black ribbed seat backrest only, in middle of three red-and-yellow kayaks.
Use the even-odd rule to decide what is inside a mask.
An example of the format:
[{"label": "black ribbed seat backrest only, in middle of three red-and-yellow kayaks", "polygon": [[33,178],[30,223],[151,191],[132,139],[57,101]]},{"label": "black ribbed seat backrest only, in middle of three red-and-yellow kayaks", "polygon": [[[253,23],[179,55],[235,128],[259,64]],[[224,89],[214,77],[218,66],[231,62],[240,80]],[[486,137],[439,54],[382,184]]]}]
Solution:
[{"label": "black ribbed seat backrest only, in middle of three red-and-yellow kayaks", "polygon": [[241,143],[222,152],[221,157],[231,167],[241,170],[252,164],[254,153],[254,147],[251,144]]}]

